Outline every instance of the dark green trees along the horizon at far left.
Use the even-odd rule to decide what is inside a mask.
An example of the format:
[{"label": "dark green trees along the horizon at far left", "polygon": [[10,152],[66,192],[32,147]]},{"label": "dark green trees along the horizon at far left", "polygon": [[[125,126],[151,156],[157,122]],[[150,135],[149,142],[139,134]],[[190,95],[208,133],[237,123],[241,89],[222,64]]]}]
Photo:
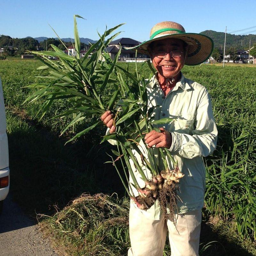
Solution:
[{"label": "dark green trees along the horizon at far left", "polygon": [[[0,48],[4,48],[4,52],[2,52],[3,56],[20,56],[24,54],[26,51],[36,50],[39,48],[40,50],[52,51],[51,44],[59,47],[61,50],[66,50],[65,46],[60,43],[59,39],[55,38],[47,38],[42,42],[38,42],[36,39],[32,37],[26,38],[12,38],[11,36],[0,36]],[[72,46],[72,42],[64,42],[66,47]],[[87,51],[89,48],[88,44],[81,43],[81,49]]]}]

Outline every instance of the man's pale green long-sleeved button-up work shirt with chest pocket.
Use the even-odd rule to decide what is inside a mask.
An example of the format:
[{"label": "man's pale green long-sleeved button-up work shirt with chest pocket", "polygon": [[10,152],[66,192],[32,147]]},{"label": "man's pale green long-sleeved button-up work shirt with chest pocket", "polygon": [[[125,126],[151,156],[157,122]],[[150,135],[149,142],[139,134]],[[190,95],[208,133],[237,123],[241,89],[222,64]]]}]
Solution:
[{"label": "man's pale green long-sleeved button-up work shirt with chest pocket", "polygon": [[[178,161],[180,171],[185,175],[180,179],[180,190],[177,192],[178,212],[181,214],[201,209],[204,205],[205,191],[205,166],[202,157],[210,155],[216,148],[218,134],[210,95],[204,86],[185,78],[182,73],[180,80],[166,97],[164,97],[164,92],[156,76],[153,76],[147,85],[147,92],[148,108],[159,106],[154,108],[152,113],[155,120],[164,117],[176,118],[169,124],[156,127],[163,127],[171,132],[172,145],[169,150],[175,161]],[[114,141],[110,140],[109,142],[115,144]],[[144,147],[143,143],[141,146]],[[154,148],[154,151],[156,152],[157,148]],[[151,178],[150,172],[141,163],[140,155],[135,150],[133,154],[146,176]],[[158,154],[155,156],[157,158]],[[145,183],[140,179],[139,172],[136,172],[132,160],[130,163],[140,187],[145,187]],[[161,164],[160,161],[158,164]],[[168,164],[172,170],[173,164],[171,162]],[[131,177],[130,182],[132,183]],[[134,195],[138,196],[138,191],[133,186],[132,190]],[[132,200],[131,203],[134,204]],[[150,209],[141,210],[141,212],[147,218],[159,220],[161,212],[158,200]]]}]

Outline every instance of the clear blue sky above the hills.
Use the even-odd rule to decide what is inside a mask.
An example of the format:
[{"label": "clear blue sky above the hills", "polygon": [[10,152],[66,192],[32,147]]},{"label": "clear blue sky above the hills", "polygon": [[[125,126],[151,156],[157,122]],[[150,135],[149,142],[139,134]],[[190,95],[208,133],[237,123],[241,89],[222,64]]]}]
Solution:
[{"label": "clear blue sky above the hills", "polygon": [[[120,23],[126,23],[120,28],[124,31],[120,37],[139,41],[147,40],[150,29],[163,20],[178,22],[186,32],[195,33],[207,29],[224,32],[225,26],[232,33],[256,26],[256,0],[1,0],[0,6],[0,35],[19,38],[55,37],[48,24],[60,37],[74,38],[74,14],[87,19],[77,20],[79,36],[93,40],[98,39],[97,29],[102,33],[106,25],[110,28]],[[256,27],[247,31],[256,34]]]}]

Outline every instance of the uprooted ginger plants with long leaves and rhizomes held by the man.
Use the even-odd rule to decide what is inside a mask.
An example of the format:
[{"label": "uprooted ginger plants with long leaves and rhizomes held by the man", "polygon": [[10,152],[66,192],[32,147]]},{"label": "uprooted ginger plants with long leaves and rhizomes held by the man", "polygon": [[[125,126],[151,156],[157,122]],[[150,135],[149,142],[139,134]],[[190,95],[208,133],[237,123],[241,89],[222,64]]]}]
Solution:
[{"label": "uprooted ginger plants with long leaves and rhizomes held by the man", "polygon": [[[183,174],[168,149],[158,148],[157,152],[154,152],[152,148],[146,146],[144,140],[145,134],[153,129],[159,131],[158,125],[167,124],[172,122],[173,119],[154,120],[154,116],[152,116],[154,107],[148,108],[147,85],[150,78],[145,79],[140,75],[137,63],[135,72],[132,74],[128,69],[125,70],[117,64],[121,50],[116,54],[114,60],[111,59],[108,52],[104,51],[109,42],[120,32],[108,36],[123,24],[106,29],[103,35],[99,34],[99,40],[92,44],[84,58],[80,59],[80,41],[76,17],[82,18],[79,15],[74,15],[76,55],[67,55],[55,45],[51,45],[54,51],[31,52],[38,60],[43,62],[44,65],[38,69],[48,74],[39,77],[43,77],[48,82],[29,84],[27,87],[36,89],[36,91],[26,101],[44,101],[43,116],[54,100],[65,99],[69,101],[72,106],[56,116],[56,118],[73,116],[71,122],[66,124],[61,134],[85,117],[95,115],[100,117],[105,111],[111,110],[115,115],[116,132],[103,136],[102,142],[110,139],[116,141],[117,150],[113,150],[116,159],[111,157],[112,161],[110,163],[115,166],[124,188],[140,209],[148,210],[158,199],[164,215],[167,216],[166,208],[169,207],[170,212],[168,214],[173,219],[176,209],[176,191]],[[108,39],[106,39],[107,37]],[[65,46],[62,41],[61,43]],[[90,54],[90,60],[87,63],[84,62]],[[47,56],[57,57],[58,61],[49,60]],[[152,68],[150,62],[148,62],[148,65]],[[154,72],[153,69],[152,71]],[[108,83],[114,84],[115,92],[103,100],[101,95]],[[78,132],[68,142],[86,134],[100,123],[99,120]],[[136,153],[140,156],[141,161],[135,157]],[[157,164],[156,156],[158,154],[163,159],[164,170],[160,170]],[[168,158],[171,160],[173,168],[168,165]],[[130,159],[145,183],[142,188],[134,175]],[[124,175],[118,169],[116,161],[121,162]],[[129,175],[132,182],[129,182]],[[125,177],[125,180],[123,177]],[[138,196],[134,195],[132,187],[138,191]]]}]

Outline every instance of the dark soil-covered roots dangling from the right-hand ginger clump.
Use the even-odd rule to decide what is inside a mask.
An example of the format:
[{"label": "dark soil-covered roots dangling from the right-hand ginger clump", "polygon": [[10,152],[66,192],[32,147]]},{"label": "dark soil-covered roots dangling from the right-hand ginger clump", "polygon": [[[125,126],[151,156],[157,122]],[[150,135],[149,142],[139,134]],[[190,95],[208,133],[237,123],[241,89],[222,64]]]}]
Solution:
[{"label": "dark soil-covered roots dangling from the right-hand ginger clump", "polygon": [[[172,182],[170,185],[164,183],[163,188],[159,190],[158,201],[165,220],[168,218],[175,222],[175,211],[177,210],[175,195],[178,189],[178,183]],[[167,212],[167,207],[169,208],[170,213]]]}]

